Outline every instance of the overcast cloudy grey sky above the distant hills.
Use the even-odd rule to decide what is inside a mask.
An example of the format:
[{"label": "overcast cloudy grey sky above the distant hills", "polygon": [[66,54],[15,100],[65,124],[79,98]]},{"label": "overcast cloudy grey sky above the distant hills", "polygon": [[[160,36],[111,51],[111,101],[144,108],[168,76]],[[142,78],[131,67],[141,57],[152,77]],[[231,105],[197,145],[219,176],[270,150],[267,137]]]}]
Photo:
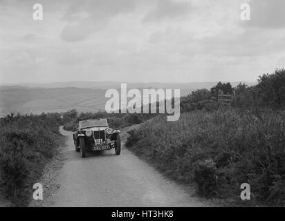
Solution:
[{"label": "overcast cloudy grey sky above the distant hills", "polygon": [[284,0],[0,0],[0,84],[256,81],[284,66]]}]

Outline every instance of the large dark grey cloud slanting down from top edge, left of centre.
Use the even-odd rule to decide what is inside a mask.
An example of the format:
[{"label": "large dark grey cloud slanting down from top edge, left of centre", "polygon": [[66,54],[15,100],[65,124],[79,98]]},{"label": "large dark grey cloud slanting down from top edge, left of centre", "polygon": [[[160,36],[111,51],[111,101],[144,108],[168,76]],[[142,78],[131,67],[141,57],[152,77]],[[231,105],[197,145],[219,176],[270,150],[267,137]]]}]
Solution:
[{"label": "large dark grey cloud slanting down from top edge, left of centre", "polygon": [[83,41],[105,28],[110,19],[131,12],[135,6],[135,0],[75,1],[63,17],[68,24],[62,28],[60,37],[64,41]]}]

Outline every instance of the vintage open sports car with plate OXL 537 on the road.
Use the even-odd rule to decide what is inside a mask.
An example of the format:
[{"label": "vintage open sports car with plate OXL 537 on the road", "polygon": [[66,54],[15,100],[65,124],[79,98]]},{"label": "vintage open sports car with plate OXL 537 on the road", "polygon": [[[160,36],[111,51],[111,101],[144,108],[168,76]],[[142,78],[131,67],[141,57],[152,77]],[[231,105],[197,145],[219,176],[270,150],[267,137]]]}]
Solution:
[{"label": "vintage open sports car with plate OXL 537 on the road", "polygon": [[115,148],[121,151],[120,131],[109,128],[107,119],[87,119],[79,122],[78,131],[73,133],[75,151],[86,157],[86,151],[102,151]]}]

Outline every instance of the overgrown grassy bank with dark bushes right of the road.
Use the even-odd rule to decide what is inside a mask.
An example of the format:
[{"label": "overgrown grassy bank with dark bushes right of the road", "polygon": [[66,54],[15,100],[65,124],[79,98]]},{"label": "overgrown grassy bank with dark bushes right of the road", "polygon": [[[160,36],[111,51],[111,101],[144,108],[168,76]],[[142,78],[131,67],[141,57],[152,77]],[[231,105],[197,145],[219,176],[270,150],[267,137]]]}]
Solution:
[{"label": "overgrown grassy bank with dark bushes right of the road", "polygon": [[[217,102],[223,88],[232,106]],[[228,89],[226,89],[228,88]],[[181,98],[177,122],[154,117],[129,131],[128,148],[167,176],[196,184],[197,192],[226,205],[285,205],[285,70],[256,86],[219,83]],[[250,184],[251,200],[240,186]]]}]

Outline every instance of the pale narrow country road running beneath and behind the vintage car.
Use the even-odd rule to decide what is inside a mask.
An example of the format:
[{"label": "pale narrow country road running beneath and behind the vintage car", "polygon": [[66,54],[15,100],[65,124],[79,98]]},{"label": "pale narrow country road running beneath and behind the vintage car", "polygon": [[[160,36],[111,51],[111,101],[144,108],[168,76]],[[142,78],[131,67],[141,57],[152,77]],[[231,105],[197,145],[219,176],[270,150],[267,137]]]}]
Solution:
[{"label": "pale narrow country road running beneath and behind the vintage car", "polygon": [[[126,131],[122,131],[122,144]],[[62,168],[57,172],[48,206],[207,206],[185,191],[183,186],[167,180],[149,164],[138,159],[122,145],[115,151],[89,153],[81,158],[75,152],[72,133],[67,137]]]}]

